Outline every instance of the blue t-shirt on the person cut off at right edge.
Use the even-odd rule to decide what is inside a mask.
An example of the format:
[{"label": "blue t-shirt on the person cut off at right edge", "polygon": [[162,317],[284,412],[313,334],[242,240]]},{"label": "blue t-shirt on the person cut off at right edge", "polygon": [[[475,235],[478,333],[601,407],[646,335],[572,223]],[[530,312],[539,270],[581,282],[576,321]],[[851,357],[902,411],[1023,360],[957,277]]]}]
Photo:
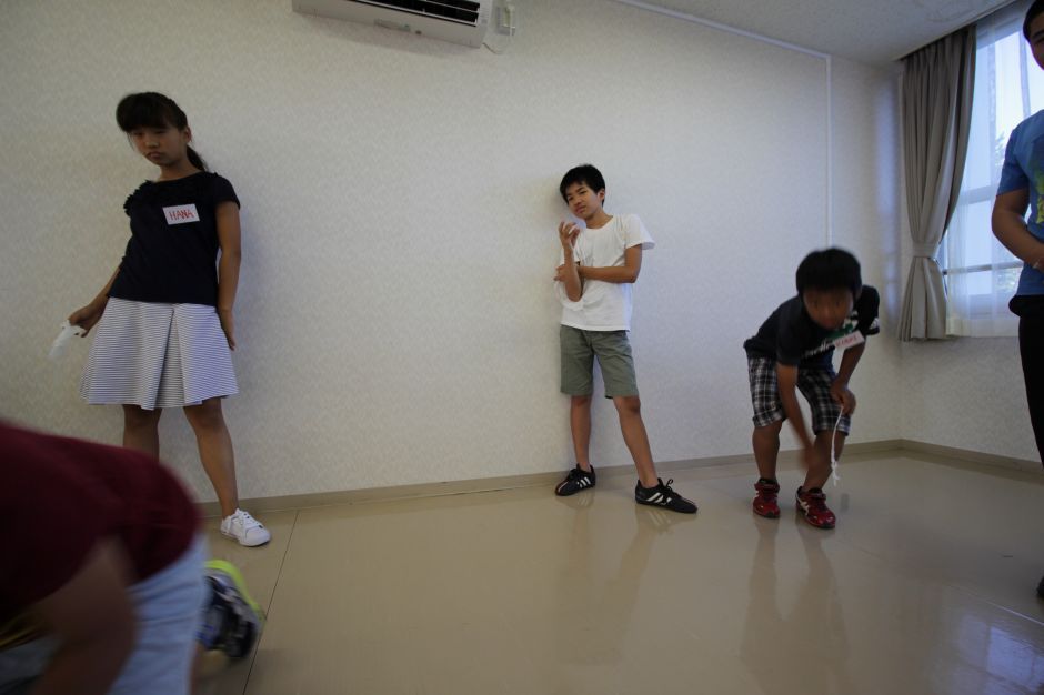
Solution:
[{"label": "blue t-shirt on the person cut off at right edge", "polygon": [[[997,195],[1030,191],[1030,233],[1044,241],[1044,111],[1015,127],[1007,140]],[[1044,272],[1023,263],[1015,294],[1044,294]]]}]

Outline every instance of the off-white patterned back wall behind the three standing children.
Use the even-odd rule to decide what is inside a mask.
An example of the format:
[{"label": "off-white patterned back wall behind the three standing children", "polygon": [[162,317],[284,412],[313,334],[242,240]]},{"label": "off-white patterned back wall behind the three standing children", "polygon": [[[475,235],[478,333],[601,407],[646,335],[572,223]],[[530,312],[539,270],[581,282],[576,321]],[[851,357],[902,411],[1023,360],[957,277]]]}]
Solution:
[{"label": "off-white patterned back wall behind the three standing children", "polygon": [[[556,184],[583,161],[659,242],[632,334],[654,456],[747,452],[740,345],[826,242],[829,127],[835,241],[889,312],[852,440],[896,437],[890,75],[834,61],[831,124],[822,58],[606,0],[516,6],[502,56],[289,0],[0,6],[0,415],[119,441],[119,409],[77,396],[86,344],[44,354],[118,263],[121,203],[152,175],[116,103],[158,90],[243,202],[227,414],[245,497],[569,465],[550,278]],[[180,414],[161,434],[213,498]],[[608,403],[593,459],[630,461]]]}]

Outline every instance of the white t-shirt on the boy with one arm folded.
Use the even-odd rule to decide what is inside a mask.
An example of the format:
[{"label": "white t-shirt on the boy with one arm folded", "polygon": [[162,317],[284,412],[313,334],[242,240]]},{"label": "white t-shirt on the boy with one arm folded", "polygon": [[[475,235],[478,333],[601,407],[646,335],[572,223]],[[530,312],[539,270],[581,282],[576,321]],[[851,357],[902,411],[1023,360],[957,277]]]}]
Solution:
[{"label": "white t-shirt on the boy with one arm folded", "polygon": [[[573,244],[573,258],[591,268],[622,268],[623,252],[638,245],[648,251],[656,242],[636,214],[618,214],[599,229],[581,230]],[[562,302],[562,325],[584,331],[631,330],[631,283],[584,280],[583,295],[576,302],[565,295],[564,283],[554,285]]]}]

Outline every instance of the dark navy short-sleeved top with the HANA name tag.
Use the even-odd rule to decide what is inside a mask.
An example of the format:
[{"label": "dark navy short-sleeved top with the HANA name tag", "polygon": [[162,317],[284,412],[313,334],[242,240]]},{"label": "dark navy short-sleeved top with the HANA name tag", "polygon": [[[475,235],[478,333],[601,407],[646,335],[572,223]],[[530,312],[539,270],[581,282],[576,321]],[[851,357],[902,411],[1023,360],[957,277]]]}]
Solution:
[{"label": "dark navy short-sleeved top with the HANA name tag", "polygon": [[123,210],[131,238],[109,296],[138,302],[218,304],[218,204],[239,199],[228,179],[199,173],[145,181]]}]

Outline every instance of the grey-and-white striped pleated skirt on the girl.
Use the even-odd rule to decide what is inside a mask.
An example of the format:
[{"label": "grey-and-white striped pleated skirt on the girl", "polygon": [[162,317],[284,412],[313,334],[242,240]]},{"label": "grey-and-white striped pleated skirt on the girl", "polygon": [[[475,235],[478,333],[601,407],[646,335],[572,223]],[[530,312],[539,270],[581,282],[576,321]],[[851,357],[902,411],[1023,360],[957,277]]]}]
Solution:
[{"label": "grey-and-white striped pleated skirt on the girl", "polygon": [[80,382],[88,403],[154,410],[239,392],[213,306],[111,298],[94,331]]}]

